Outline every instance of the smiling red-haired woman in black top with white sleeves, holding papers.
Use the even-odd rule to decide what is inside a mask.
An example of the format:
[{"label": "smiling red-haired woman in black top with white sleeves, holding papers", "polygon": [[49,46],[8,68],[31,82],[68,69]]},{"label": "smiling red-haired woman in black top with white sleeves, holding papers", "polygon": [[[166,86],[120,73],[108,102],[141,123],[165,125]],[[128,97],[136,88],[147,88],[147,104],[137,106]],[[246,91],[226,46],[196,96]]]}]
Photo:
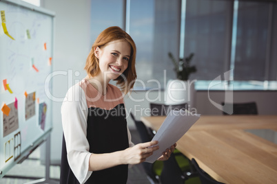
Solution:
[{"label": "smiling red-haired woman in black top with white sleeves, holding papers", "polygon": [[[88,73],[68,90],[61,107],[63,152],[60,183],[126,183],[127,165],[145,161],[157,141],[131,141],[122,92],[136,80],[136,45],[120,27],[96,38],[85,64]],[[167,160],[174,147],[159,160]],[[151,148],[149,148],[151,147]]]}]

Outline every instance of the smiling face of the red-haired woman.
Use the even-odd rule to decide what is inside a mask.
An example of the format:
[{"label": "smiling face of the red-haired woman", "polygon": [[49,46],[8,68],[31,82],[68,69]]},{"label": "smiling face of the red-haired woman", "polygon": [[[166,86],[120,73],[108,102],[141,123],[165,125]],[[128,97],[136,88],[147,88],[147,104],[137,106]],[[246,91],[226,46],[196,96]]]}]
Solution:
[{"label": "smiling face of the red-haired woman", "polygon": [[99,58],[100,74],[107,80],[114,80],[127,69],[131,47],[127,41],[112,41],[104,47],[96,47],[94,54]]}]

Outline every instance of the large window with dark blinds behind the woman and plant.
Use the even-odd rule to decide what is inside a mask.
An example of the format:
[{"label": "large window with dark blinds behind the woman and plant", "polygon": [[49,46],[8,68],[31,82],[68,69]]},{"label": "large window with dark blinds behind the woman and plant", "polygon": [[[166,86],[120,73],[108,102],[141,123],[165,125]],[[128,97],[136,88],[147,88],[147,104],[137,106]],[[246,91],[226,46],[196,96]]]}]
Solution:
[{"label": "large window with dark blinds behind the woman and plant", "polygon": [[[122,13],[126,7],[127,16]],[[176,78],[169,52],[176,59],[194,53],[197,72],[189,79],[203,87],[229,70],[225,80],[234,80],[238,88],[275,86],[276,1],[92,0],[92,41],[106,27],[125,27],[125,21],[137,47],[136,88],[163,89],[167,80]]]}]

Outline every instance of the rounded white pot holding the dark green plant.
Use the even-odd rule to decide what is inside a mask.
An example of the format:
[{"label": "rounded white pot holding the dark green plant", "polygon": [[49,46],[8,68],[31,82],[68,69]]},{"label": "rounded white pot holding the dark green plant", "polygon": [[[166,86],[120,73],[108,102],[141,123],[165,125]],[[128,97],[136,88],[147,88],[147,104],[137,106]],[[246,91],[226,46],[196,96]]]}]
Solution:
[{"label": "rounded white pot holding the dark green plant", "polygon": [[165,89],[165,104],[187,103],[194,106],[194,82],[195,80],[169,80]]}]

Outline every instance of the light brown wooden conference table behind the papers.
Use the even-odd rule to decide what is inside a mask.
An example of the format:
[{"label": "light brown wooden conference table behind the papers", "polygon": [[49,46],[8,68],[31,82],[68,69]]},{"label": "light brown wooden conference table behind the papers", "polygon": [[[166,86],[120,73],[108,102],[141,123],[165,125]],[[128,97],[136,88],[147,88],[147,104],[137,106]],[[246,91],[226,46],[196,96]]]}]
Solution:
[{"label": "light brown wooden conference table behind the papers", "polygon": [[[164,116],[141,117],[154,130]],[[277,183],[277,144],[247,129],[277,131],[277,115],[202,115],[177,142],[177,148],[217,181]]]}]

